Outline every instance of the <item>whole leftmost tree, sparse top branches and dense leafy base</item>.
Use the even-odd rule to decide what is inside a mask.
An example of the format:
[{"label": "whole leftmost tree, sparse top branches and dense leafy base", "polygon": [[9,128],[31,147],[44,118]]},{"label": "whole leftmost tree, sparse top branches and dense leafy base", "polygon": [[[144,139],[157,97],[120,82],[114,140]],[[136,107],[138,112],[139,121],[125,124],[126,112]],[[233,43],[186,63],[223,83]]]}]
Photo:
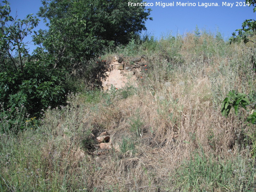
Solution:
[{"label": "whole leftmost tree, sparse top branches and dense leafy base", "polygon": [[0,121],[9,123],[0,124],[0,132],[12,129],[20,121],[17,111],[21,108],[24,113],[39,117],[41,109],[63,104],[66,75],[64,70],[53,69],[54,58],[43,58],[39,55],[42,52],[37,53],[37,58],[28,54],[24,37],[33,32],[39,19],[32,15],[23,20],[13,19],[9,3],[3,3],[0,4]]}]

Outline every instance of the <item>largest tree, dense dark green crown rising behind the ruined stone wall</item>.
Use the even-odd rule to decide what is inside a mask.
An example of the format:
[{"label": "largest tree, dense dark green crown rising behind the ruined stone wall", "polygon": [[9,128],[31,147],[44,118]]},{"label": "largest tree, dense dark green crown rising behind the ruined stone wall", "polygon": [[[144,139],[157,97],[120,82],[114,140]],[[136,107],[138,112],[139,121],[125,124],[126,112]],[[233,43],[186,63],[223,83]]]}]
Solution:
[{"label": "largest tree, dense dark green crown rising behind the ruined stone wall", "polygon": [[[136,0],[135,2],[141,2]],[[38,15],[48,31],[39,31],[37,44],[61,63],[74,63],[97,56],[104,47],[127,44],[142,30],[150,9],[128,6],[126,0],[42,0]]]}]

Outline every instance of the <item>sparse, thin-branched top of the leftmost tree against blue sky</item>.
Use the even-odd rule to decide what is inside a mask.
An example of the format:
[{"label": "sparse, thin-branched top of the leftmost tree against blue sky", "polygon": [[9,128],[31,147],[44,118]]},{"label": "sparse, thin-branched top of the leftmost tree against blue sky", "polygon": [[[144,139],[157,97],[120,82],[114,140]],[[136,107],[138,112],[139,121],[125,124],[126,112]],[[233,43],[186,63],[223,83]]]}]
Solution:
[{"label": "sparse, thin-branched top of the leftmost tree against blue sky", "polygon": [[24,38],[30,35],[32,29],[38,25],[39,19],[32,14],[27,15],[23,20],[10,16],[9,2],[3,1],[0,5],[0,60],[2,71],[13,69],[23,73],[24,60],[28,56],[28,49]]}]

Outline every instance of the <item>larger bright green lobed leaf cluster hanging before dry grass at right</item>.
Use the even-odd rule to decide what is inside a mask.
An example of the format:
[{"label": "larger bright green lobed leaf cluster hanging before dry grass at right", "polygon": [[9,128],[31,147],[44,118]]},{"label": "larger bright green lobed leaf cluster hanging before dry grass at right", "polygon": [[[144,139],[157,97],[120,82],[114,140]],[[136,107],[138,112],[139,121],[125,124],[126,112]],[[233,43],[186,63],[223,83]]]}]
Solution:
[{"label": "larger bright green lobed leaf cluster hanging before dry grass at right", "polygon": [[228,97],[224,99],[221,105],[221,115],[227,117],[231,108],[235,109],[236,115],[238,114],[238,108],[249,104],[249,100],[246,98],[247,95],[244,93],[236,93],[234,90],[228,93]]}]

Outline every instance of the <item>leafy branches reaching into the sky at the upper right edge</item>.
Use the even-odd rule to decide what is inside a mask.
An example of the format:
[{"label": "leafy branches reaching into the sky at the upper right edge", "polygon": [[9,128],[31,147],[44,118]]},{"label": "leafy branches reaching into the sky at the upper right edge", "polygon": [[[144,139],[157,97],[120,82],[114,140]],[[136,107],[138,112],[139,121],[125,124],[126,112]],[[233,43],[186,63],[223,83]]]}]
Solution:
[{"label": "leafy branches reaching into the sky at the upper right edge", "polygon": [[[254,6],[253,12],[256,12],[256,0],[246,0],[246,4]],[[256,44],[256,42],[252,41],[249,37],[255,35],[256,36],[256,21],[253,19],[245,20],[242,24],[241,29],[236,29],[238,31],[238,35],[236,33],[232,33],[232,37],[229,39],[230,43],[237,42],[243,40],[244,43],[252,42]]]}]

